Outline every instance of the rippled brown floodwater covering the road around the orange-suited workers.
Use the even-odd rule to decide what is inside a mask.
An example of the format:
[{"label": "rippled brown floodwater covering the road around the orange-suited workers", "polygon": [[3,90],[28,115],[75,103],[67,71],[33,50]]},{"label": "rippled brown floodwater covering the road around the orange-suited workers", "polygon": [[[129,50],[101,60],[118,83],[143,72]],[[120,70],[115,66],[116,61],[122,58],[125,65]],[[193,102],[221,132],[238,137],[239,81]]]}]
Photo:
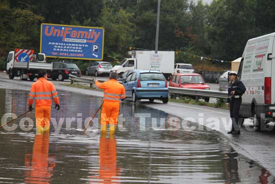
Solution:
[{"label": "rippled brown floodwater covering the road around the orange-suited workers", "polygon": [[[27,94],[0,89],[0,117],[23,113]],[[61,109],[51,113],[57,123],[90,117],[101,103],[100,98],[68,92],[59,92],[59,97]],[[144,127],[135,116],[150,114],[158,125],[165,120],[165,127],[176,117],[142,104],[124,102],[120,113],[125,131],[115,136],[83,135],[79,129],[84,123],[77,127],[76,119],[60,125],[59,133],[53,125],[49,134],[23,131],[31,124],[27,122],[12,131],[1,129],[0,183],[274,183],[266,169],[236,153],[215,131],[153,130],[151,118],[145,118]],[[34,112],[23,117],[32,118]]]}]

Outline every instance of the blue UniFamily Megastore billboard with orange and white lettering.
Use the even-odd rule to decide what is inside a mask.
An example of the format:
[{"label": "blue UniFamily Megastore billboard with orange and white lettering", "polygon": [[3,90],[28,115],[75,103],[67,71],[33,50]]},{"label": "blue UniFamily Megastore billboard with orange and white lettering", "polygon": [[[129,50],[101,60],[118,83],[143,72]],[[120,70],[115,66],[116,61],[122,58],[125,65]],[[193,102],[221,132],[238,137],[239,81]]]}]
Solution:
[{"label": "blue UniFamily Megastore billboard with orange and white lettering", "polygon": [[40,53],[49,58],[102,60],[104,29],[41,24]]}]

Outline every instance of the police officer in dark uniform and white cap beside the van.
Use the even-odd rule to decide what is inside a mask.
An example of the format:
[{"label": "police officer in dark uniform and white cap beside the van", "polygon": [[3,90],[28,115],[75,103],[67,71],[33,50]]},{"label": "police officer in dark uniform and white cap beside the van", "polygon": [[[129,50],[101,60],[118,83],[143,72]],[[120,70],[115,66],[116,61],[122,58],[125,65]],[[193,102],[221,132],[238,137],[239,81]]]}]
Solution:
[{"label": "police officer in dark uniform and white cap beside the van", "polygon": [[237,72],[229,72],[230,84],[228,86],[228,104],[230,106],[230,117],[232,119],[232,129],[227,132],[228,134],[240,134],[239,108],[241,104],[241,96],[245,92],[243,83],[238,80]]}]

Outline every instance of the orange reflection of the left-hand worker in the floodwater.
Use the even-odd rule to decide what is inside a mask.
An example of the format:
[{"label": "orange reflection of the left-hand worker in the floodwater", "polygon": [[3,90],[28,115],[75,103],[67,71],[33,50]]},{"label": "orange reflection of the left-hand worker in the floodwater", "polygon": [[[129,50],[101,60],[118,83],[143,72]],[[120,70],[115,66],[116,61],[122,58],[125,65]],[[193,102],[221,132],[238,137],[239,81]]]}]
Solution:
[{"label": "orange reflection of the left-hand worker in the floodwater", "polygon": [[55,157],[48,156],[49,133],[36,134],[32,154],[25,155],[25,183],[50,183],[55,167]]}]

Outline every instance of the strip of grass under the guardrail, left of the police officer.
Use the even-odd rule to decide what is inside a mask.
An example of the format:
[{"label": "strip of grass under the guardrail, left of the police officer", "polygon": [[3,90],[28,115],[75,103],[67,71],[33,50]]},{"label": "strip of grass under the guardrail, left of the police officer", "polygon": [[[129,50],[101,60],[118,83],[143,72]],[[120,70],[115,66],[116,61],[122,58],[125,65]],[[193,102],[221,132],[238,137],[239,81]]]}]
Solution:
[{"label": "strip of grass under the guardrail, left of the police officer", "polygon": [[217,99],[216,103],[208,103],[204,101],[195,101],[194,99],[191,99],[188,97],[181,97],[180,99],[169,99],[169,102],[200,105],[200,106],[214,107],[214,108],[220,108],[220,109],[229,109],[227,105],[224,103],[223,99]]}]

